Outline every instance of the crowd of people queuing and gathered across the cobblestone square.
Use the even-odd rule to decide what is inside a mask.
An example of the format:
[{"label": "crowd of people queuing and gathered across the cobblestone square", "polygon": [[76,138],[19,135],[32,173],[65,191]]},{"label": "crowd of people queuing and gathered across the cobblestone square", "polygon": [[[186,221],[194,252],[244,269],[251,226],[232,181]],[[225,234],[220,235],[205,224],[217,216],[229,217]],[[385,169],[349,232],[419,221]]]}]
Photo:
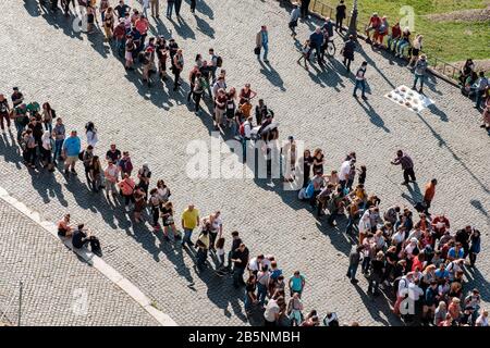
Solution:
[{"label": "crowd of people queuing and gathered across the cobblestone square", "polygon": [[[100,15],[107,39],[115,38],[118,47],[125,49],[126,69],[133,69],[136,57],[140,57],[144,79],[149,83],[151,72],[156,70],[155,58],[158,60],[161,78],[166,77],[167,61],[170,59],[171,71],[175,75],[174,89],[179,88],[184,61],[182,49],[175,40],[171,38],[167,44],[163,37],[148,37],[148,20],[138,11],[133,11],[130,15],[131,9],[124,1],[121,0],[114,9],[105,7],[103,3],[108,4],[108,1],[102,0],[99,7],[102,10]],[[88,8],[91,2],[85,5]],[[154,8],[151,9],[154,11]],[[303,8],[296,7],[293,11],[296,12],[293,12],[291,17],[297,21],[303,15]],[[87,12],[90,10],[87,9]],[[119,17],[119,21],[115,21],[115,17]],[[339,22],[342,25],[341,17],[342,15],[336,16],[338,26]],[[385,22],[385,18],[380,23],[383,21]],[[114,26],[117,22],[119,24]],[[291,23],[294,36],[295,25]],[[333,36],[334,26],[330,18],[327,18],[326,24],[311,34],[316,36],[305,44],[307,48],[316,49],[319,64],[323,61],[323,46]],[[119,32],[122,34],[118,35]],[[380,32],[376,27],[367,32],[368,37],[370,32],[373,33],[372,39],[379,45],[383,41],[382,37],[388,35],[388,29]],[[264,61],[267,61],[268,40],[267,27],[262,26],[256,37],[259,48],[256,54]],[[401,44],[405,41],[401,40],[401,37],[390,37],[389,47],[403,52],[404,46]],[[353,38],[351,41],[353,42]],[[344,46],[344,57],[351,54],[350,52],[354,54],[354,45],[353,42],[351,48],[347,44]],[[346,53],[346,50],[350,51]],[[243,144],[258,138],[266,141],[277,140],[279,134],[277,125],[274,126],[273,111],[259,99],[255,107],[254,122],[253,99],[257,92],[249,84],[246,84],[240,94],[233,87],[228,88],[226,72],[222,67],[223,59],[215,53],[212,48],[208,53],[208,60],[196,54],[188,76],[191,90],[187,101],[194,101],[195,111],[199,112],[200,101],[207,97],[209,104],[212,104],[216,129],[224,134],[230,128],[231,136],[240,138]],[[305,64],[308,58],[309,55],[305,55]],[[416,69],[419,61],[420,58],[414,61]],[[365,97],[365,86],[362,82],[366,65],[364,62],[356,73],[356,80],[359,83],[356,82],[354,95],[356,89],[360,88],[362,96]],[[346,66],[350,67],[347,64]],[[414,86],[416,83],[417,79]],[[29,170],[53,172],[58,167],[69,178],[77,175],[77,163],[81,162],[88,189],[95,194],[105,191],[108,204],[120,206],[131,214],[134,223],[148,220],[154,233],[161,234],[167,243],[173,240],[187,248],[194,254],[198,272],[216,272],[218,276],[230,275],[236,288],[245,287],[244,307],[247,314],[252,315],[260,309],[264,311],[266,325],[339,325],[336,313],[326,313],[321,316],[316,310],[311,310],[304,315],[303,294],[306,276],[301,271],[285,277],[273,256],[256,253],[256,257],[250,257],[250,251],[236,231],[231,233],[230,248],[225,251],[226,240],[220,211],[201,216],[194,204],[188,204],[181,214],[179,228],[170,199],[171,191],[166,183],[162,179],[154,181],[148,163],[143,163],[134,171],[130,153],[118,149],[115,144],[111,144],[107,151],[102,150],[105,156],[100,156],[100,149],[97,147],[99,130],[93,122],[87,122],[85,126],[86,146],[82,146],[78,133],[75,129],[66,132],[63,120],[49,102],[42,103],[42,107],[37,102],[27,103],[17,87],[13,88],[11,102],[12,105],[0,95],[2,130],[3,121],[7,121],[7,128],[10,130],[12,120],[24,163]],[[254,137],[254,134],[257,135]],[[304,185],[298,197],[309,202],[318,219],[328,215],[328,223],[332,226],[336,225],[336,221],[346,220],[345,233],[356,239],[348,256],[350,266],[346,274],[353,284],[357,283],[356,274],[360,264],[362,273],[369,284],[367,291],[372,296],[379,296],[380,290],[387,294],[391,291],[395,296],[393,312],[402,314],[407,322],[415,319],[438,326],[488,326],[488,312],[480,309],[478,289],[468,291],[463,279],[464,272],[475,268],[481,246],[480,232],[470,225],[454,229],[444,214],[429,212],[436,196],[437,179],[427,183],[421,201],[413,209],[399,204],[381,213],[381,200],[377,195],[368,195],[367,167],[357,166],[355,152],[346,156],[339,171],[333,170],[329,174],[324,173],[323,151],[307,149],[301,157],[292,136],[289,137],[283,156],[286,162],[287,159],[294,159],[292,169],[296,159],[303,163]],[[401,165],[403,185],[416,185],[414,162],[405,151],[397,151],[391,164]],[[294,176],[284,174],[283,179],[293,181]],[[193,237],[196,229],[199,231],[197,237]],[[70,214],[60,220],[58,231],[61,237],[72,238],[74,248],[90,245],[94,252],[101,253],[99,239],[87,232],[83,224],[72,224]],[[408,304],[408,309],[404,307],[405,303],[412,303],[411,300],[414,311],[409,310],[412,307]]]}]

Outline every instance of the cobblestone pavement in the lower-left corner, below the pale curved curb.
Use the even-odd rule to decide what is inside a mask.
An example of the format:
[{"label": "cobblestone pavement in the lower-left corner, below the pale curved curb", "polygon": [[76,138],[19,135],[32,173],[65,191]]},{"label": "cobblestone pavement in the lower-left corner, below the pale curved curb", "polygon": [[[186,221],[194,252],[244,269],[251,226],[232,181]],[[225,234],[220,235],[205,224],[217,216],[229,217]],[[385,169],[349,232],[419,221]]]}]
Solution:
[{"label": "cobblestone pavement in the lower-left corner, below the pale curved curb", "polygon": [[[0,318],[21,325],[158,325],[118,286],[0,199]],[[10,304],[10,306],[9,306]]]}]

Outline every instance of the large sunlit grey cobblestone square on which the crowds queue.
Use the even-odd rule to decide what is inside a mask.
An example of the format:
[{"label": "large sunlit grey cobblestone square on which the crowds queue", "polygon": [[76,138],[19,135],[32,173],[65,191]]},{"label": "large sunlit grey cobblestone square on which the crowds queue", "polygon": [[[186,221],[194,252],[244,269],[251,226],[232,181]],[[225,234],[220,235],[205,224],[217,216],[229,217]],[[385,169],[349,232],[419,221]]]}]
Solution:
[{"label": "large sunlit grey cobblestone square on which the crowds queue", "polygon": [[[189,179],[187,142],[208,140],[212,123],[208,114],[197,116],[186,107],[188,85],[184,84],[184,92],[173,92],[170,83],[148,89],[139,73],[124,71],[100,34],[87,38],[74,33],[64,17],[44,13],[34,3],[1,2],[7,15],[0,29],[9,33],[0,37],[3,91],[20,86],[27,100],[51,101],[65,123],[79,130],[94,121],[100,135],[97,152],[115,141],[132,153],[136,166],[148,162],[155,178],[164,178],[172,189],[177,212],[191,201],[201,215],[220,209],[226,236],[236,228],[253,253],[275,254],[286,274],[302,270],[307,277],[306,309],[336,311],[341,321],[364,325],[400,324],[385,299],[366,294],[365,279],[358,286],[346,282],[352,240],[342,232],[345,221],[329,227],[278,183]],[[169,37],[172,30],[184,48],[184,76],[195,53],[213,47],[223,57],[229,86],[250,82],[274,110],[282,137],[295,135],[309,148],[324,149],[327,171],[338,169],[345,153],[355,150],[368,167],[368,191],[381,197],[382,209],[417,200],[422,184],[437,177],[432,211],[445,212],[455,227],[474,223],[482,231],[482,257],[468,278],[488,303],[489,138],[478,127],[479,114],[471,102],[456,88],[431,78],[427,94],[436,102],[432,108],[418,115],[399,108],[382,96],[411,84],[409,71],[365,45],[353,67],[363,60],[369,63],[369,100],[356,101],[351,97],[353,75],[346,76],[338,60],[331,60],[324,72],[315,67],[307,72],[296,64],[299,42],[291,38],[287,14],[277,1],[220,3],[199,1],[194,17],[184,2],[184,21],[171,22],[163,15],[150,21],[154,33]],[[270,30],[270,66],[253,54],[255,33],[262,23]],[[310,29],[311,24],[301,23],[298,39]],[[73,221],[86,222],[101,238],[105,260],[179,324],[246,323],[243,293],[234,290],[230,279],[196,273],[187,252],[155,236],[148,224],[133,225],[121,208],[113,210],[102,195],[89,192],[83,175],[66,179],[58,172],[53,176],[28,172],[11,147],[11,136],[0,139],[0,182],[11,195],[46,220],[56,221],[70,211]],[[420,188],[400,185],[400,167],[389,164],[399,148],[413,157]]]}]

